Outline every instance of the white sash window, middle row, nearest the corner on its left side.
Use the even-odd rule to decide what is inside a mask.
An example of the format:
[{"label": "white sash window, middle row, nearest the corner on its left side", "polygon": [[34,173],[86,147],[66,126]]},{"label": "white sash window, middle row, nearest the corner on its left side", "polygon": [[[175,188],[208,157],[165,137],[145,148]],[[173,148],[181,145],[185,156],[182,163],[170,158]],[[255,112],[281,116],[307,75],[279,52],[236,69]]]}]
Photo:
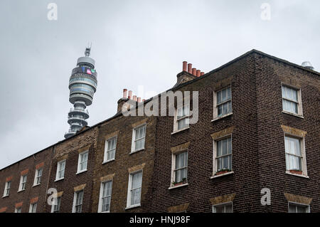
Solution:
[{"label": "white sash window, middle row, nearest the corner on its left side", "polygon": [[213,171],[214,174],[232,170],[231,137],[215,141]]}]

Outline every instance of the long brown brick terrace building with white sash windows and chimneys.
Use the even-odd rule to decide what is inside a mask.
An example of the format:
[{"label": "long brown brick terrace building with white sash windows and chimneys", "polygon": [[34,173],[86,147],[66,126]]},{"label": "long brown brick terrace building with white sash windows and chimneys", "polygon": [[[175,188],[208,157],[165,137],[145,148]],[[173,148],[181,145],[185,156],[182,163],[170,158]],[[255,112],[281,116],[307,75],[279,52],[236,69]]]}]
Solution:
[{"label": "long brown brick terrace building with white sash windows and chimneys", "polygon": [[0,211],[320,212],[318,72],[252,50],[204,75],[183,63],[170,90],[198,99],[125,117],[125,95],[110,119],[1,169]]}]

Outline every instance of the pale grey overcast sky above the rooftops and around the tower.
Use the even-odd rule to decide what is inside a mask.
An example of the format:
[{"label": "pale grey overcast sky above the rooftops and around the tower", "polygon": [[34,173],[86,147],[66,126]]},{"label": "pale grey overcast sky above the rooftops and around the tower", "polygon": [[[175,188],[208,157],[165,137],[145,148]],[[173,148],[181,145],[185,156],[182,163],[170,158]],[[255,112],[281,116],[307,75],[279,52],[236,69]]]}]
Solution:
[{"label": "pale grey overcast sky above the rooftops and around the tower", "polygon": [[95,125],[115,114],[123,88],[144,86],[142,98],[171,88],[183,60],[207,73],[255,48],[319,71],[319,9],[319,0],[1,0],[0,169],[64,139],[68,80],[89,41]]}]

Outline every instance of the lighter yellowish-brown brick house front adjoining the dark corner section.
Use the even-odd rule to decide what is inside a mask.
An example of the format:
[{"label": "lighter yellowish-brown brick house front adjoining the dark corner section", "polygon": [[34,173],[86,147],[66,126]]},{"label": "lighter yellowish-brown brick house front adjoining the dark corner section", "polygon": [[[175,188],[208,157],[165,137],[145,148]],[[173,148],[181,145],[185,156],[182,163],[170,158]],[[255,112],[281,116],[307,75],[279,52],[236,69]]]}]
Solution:
[{"label": "lighter yellowish-brown brick house front adjoining the dark corner section", "polygon": [[[132,130],[135,126],[146,123],[144,150],[129,154],[132,146]],[[114,174],[112,179],[112,198],[110,212],[142,212],[149,204],[150,184],[154,169],[155,117],[124,117],[105,122],[99,127],[97,152],[95,155],[94,185],[92,191],[92,212],[97,212],[100,196],[101,178]],[[105,153],[105,140],[117,136],[115,159],[102,164]],[[138,167],[137,167],[138,166]],[[141,207],[125,209],[130,168],[142,169]]]}]

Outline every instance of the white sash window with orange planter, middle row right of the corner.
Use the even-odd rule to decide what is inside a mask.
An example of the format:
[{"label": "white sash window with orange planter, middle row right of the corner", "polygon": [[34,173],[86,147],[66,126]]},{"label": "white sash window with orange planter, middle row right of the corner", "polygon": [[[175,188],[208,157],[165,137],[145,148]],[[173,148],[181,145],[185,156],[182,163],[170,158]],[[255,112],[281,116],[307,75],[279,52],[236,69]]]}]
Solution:
[{"label": "white sash window with orange planter, middle row right of the corner", "polygon": [[306,162],[303,149],[304,139],[295,137],[284,137],[284,148],[286,153],[287,171],[294,174],[306,175]]}]

